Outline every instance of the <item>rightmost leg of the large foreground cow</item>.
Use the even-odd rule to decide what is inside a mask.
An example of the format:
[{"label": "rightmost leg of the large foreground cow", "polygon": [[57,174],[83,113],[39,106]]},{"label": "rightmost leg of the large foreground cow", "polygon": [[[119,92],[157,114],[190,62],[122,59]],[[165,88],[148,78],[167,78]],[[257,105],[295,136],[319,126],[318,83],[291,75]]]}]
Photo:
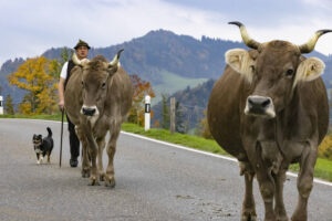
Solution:
[{"label": "rightmost leg of the large foreground cow", "polygon": [[[305,151],[307,150],[307,151]],[[313,185],[313,169],[317,160],[317,150],[307,148],[300,160],[300,172],[298,177],[299,201],[292,215],[292,221],[308,220],[308,199]]]}]

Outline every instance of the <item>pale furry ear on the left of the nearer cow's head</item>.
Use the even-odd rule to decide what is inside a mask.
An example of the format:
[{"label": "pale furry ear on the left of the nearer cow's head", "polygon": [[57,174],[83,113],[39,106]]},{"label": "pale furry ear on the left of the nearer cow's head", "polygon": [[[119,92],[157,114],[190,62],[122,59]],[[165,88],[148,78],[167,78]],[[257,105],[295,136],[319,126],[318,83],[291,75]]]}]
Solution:
[{"label": "pale furry ear on the left of the nearer cow's head", "polygon": [[226,63],[236,72],[246,75],[249,80],[252,78],[252,70],[255,60],[249,52],[243,49],[232,49],[225,54]]}]

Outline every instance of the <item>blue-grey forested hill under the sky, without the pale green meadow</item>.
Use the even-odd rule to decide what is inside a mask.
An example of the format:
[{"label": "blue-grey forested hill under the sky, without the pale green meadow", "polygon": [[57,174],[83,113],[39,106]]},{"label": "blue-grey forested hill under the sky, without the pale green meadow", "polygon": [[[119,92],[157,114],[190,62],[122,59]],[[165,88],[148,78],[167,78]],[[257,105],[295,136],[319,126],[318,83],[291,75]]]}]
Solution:
[{"label": "blue-grey forested hill under the sky, without the pale green meadow", "polygon": [[[160,70],[184,77],[217,78],[225,66],[224,54],[232,48],[245,45],[240,42],[207,36],[196,40],[188,35],[158,30],[122,44],[92,49],[90,55],[103,54],[111,60],[118,49],[124,49],[121,62],[125,70],[157,83],[159,81],[157,72]],[[51,49],[43,55],[58,59],[60,50]]]}]

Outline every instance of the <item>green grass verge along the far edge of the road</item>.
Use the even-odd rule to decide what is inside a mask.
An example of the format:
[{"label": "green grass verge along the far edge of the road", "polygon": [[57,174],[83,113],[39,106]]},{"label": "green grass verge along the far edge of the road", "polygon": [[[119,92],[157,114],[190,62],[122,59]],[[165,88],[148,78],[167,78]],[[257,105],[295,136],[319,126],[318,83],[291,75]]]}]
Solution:
[{"label": "green grass verge along the far edge of the road", "polygon": [[[34,116],[23,116],[23,115],[0,115],[0,118],[31,118],[31,119],[49,119],[49,120],[61,120],[61,114],[58,115],[34,115]],[[195,149],[214,152],[218,155],[228,155],[219,145],[211,139],[205,139],[197,136],[184,135],[184,134],[174,134],[172,135],[169,130],[166,129],[149,129],[144,130],[143,127],[139,127],[135,124],[124,123],[122,125],[124,131],[155,138],[163,141],[168,141],[177,145],[183,145],[186,147],[191,147]],[[228,155],[229,156],[229,155]],[[290,166],[291,171],[299,171],[299,164]],[[328,159],[318,158],[314,167],[314,177],[321,178],[328,181],[332,181],[332,161]]]}]

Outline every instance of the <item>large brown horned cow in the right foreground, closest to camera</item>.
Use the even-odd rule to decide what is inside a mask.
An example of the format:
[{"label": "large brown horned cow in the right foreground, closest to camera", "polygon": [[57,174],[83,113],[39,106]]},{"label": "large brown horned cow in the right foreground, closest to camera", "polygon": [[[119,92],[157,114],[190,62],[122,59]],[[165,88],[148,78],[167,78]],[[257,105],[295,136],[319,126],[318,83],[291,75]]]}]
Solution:
[{"label": "large brown horned cow in the right foreground, closest to camera", "polygon": [[[292,220],[307,220],[318,146],[326,134],[329,105],[320,75],[324,63],[305,59],[320,30],[303,45],[286,41],[259,43],[240,28],[252,50],[229,50],[227,66],[215,84],[208,104],[208,124],[217,143],[239,160],[246,192],[241,220],[256,220],[252,179],[257,176],[266,221],[289,220],[283,204],[283,182],[292,162],[300,162],[299,199]],[[276,203],[273,206],[273,202]]]}]

